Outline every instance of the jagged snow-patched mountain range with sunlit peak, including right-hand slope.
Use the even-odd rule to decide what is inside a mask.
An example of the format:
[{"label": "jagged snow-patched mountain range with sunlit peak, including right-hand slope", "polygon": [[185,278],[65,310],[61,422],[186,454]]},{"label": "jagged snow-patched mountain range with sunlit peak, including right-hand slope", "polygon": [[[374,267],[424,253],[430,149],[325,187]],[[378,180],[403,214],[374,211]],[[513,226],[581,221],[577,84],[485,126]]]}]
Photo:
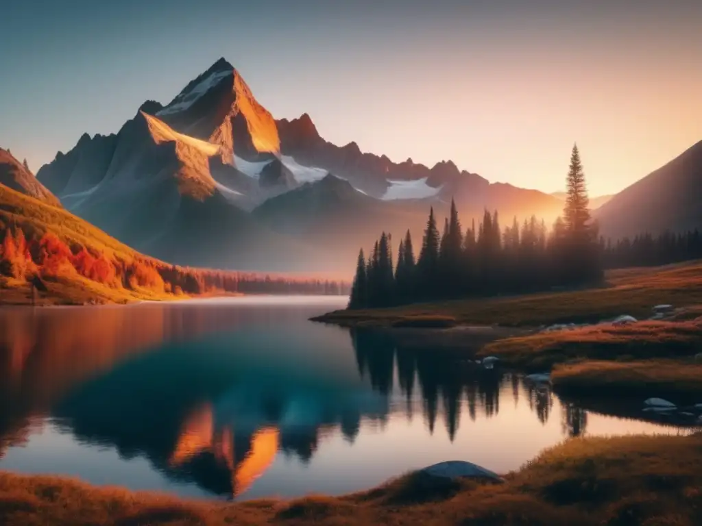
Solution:
[{"label": "jagged snow-patched mountain range with sunlit peak, including right-hand slope", "polygon": [[[637,219],[642,194],[651,206],[685,191],[686,210],[693,210],[698,150],[596,210],[603,233],[647,228]],[[0,177],[35,197],[55,194],[71,213],[136,250],[222,269],[350,271],[358,248],[368,248],[380,231],[400,236],[409,228],[419,243],[430,206],[441,220],[452,198],[464,225],[485,208],[498,210],[503,224],[532,214],[550,222],[563,208],[562,196],[490,183],[452,161],[429,168],[364,153],[355,142],[339,147],[324,140],[308,114],[276,121],[224,59],[165,106],[144,102],[117,133],[84,134],[36,179],[15,164],[13,175]],[[678,174],[675,189],[656,191]],[[687,227],[700,217],[679,210],[668,219],[657,227]]]}]

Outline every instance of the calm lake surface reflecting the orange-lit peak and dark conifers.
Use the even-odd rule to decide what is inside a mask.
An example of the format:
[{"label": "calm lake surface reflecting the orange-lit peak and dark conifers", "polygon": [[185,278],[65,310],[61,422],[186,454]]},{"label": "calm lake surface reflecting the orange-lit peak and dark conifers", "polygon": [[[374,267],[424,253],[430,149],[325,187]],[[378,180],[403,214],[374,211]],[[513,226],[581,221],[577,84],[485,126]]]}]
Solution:
[{"label": "calm lake surface reflecting the orange-lit peak and dark conifers", "polygon": [[307,321],[345,302],[0,309],[0,470],[294,497],[450,459],[505,472],[579,434],[680,432]]}]

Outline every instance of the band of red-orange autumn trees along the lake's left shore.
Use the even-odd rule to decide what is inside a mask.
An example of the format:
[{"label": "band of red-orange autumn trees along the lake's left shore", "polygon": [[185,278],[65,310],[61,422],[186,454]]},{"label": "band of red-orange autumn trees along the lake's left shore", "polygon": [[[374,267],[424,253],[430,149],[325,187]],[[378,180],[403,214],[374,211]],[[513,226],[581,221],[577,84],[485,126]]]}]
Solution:
[{"label": "band of red-orange autumn trees along the lake's left shore", "polygon": [[[0,225],[3,226],[3,225]],[[286,278],[251,272],[176,267],[157,259],[110,257],[51,232],[26,235],[21,227],[0,228],[0,276],[45,280],[82,276],[110,288],[147,289],[157,294],[201,295],[216,292],[244,294],[345,295],[343,281]]]}]

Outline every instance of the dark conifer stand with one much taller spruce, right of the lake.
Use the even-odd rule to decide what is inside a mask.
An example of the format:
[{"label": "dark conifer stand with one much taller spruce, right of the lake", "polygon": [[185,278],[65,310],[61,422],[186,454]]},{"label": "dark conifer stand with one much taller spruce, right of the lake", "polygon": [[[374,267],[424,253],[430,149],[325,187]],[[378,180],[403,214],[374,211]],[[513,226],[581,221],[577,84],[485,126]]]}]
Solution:
[{"label": "dark conifer stand with one much taller spruce, right of the lake", "polygon": [[577,146],[567,175],[562,217],[551,229],[532,216],[502,229],[495,211],[463,230],[451,202],[442,233],[431,209],[418,254],[409,230],[393,264],[392,237],[383,233],[366,258],[361,250],[348,307],[364,309],[435,299],[520,294],[602,280],[603,269],[666,264],[702,257],[698,231],[605,242],[590,218]]}]

